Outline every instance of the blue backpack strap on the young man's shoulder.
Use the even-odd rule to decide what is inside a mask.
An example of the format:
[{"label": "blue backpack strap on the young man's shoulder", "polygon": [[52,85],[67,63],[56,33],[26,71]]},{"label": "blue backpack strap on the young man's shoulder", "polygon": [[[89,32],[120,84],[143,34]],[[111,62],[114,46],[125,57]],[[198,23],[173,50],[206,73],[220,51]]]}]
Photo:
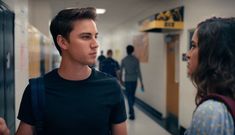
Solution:
[{"label": "blue backpack strap on the young man's shoulder", "polygon": [[29,80],[31,86],[32,109],[35,118],[35,129],[37,135],[43,135],[43,119],[45,107],[45,87],[43,77]]}]

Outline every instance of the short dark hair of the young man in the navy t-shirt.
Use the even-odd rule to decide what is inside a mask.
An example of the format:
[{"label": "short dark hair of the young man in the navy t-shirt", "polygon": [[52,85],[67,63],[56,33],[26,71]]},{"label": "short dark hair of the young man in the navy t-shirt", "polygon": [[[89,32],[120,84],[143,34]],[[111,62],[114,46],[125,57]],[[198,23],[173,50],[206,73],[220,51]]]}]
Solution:
[{"label": "short dark hair of the young man in the navy t-shirt", "polygon": [[74,22],[83,19],[92,19],[95,21],[96,9],[93,7],[64,9],[53,18],[50,25],[50,31],[60,55],[61,49],[57,43],[57,36],[62,35],[69,41],[69,34],[73,30]]}]

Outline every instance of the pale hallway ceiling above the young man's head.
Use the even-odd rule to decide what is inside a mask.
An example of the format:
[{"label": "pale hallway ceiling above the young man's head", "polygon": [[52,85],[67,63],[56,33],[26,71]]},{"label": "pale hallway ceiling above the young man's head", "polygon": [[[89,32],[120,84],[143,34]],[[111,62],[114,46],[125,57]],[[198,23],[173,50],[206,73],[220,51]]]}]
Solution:
[{"label": "pale hallway ceiling above the young man's head", "polygon": [[[97,18],[99,31],[102,33],[110,32],[149,8],[154,8],[157,4],[167,1],[171,0],[47,0],[52,10],[52,16],[68,7],[105,8],[106,13],[98,15]],[[147,16],[143,16],[143,18],[145,17]]]}]

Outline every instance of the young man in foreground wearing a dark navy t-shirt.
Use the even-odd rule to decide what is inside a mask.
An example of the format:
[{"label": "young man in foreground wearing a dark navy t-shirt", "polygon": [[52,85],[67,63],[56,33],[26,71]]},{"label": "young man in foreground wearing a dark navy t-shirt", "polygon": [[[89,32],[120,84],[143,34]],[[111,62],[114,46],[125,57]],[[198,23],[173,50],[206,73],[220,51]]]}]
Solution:
[{"label": "young man in foreground wearing a dark navy t-shirt", "polygon": [[[88,65],[96,62],[94,8],[65,9],[50,25],[61,65],[44,76],[46,135],[127,135],[124,99],[116,79]],[[17,135],[33,135],[31,89],[27,86],[18,115]]]}]

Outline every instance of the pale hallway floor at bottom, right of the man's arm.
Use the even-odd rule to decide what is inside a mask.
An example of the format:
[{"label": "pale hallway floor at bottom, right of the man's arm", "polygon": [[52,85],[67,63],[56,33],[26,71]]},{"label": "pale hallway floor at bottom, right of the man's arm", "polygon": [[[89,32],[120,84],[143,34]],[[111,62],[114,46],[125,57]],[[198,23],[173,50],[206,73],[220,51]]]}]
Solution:
[{"label": "pale hallway floor at bottom, right of the man's arm", "polygon": [[136,119],[127,120],[128,135],[170,135],[155,121],[135,107]]}]

